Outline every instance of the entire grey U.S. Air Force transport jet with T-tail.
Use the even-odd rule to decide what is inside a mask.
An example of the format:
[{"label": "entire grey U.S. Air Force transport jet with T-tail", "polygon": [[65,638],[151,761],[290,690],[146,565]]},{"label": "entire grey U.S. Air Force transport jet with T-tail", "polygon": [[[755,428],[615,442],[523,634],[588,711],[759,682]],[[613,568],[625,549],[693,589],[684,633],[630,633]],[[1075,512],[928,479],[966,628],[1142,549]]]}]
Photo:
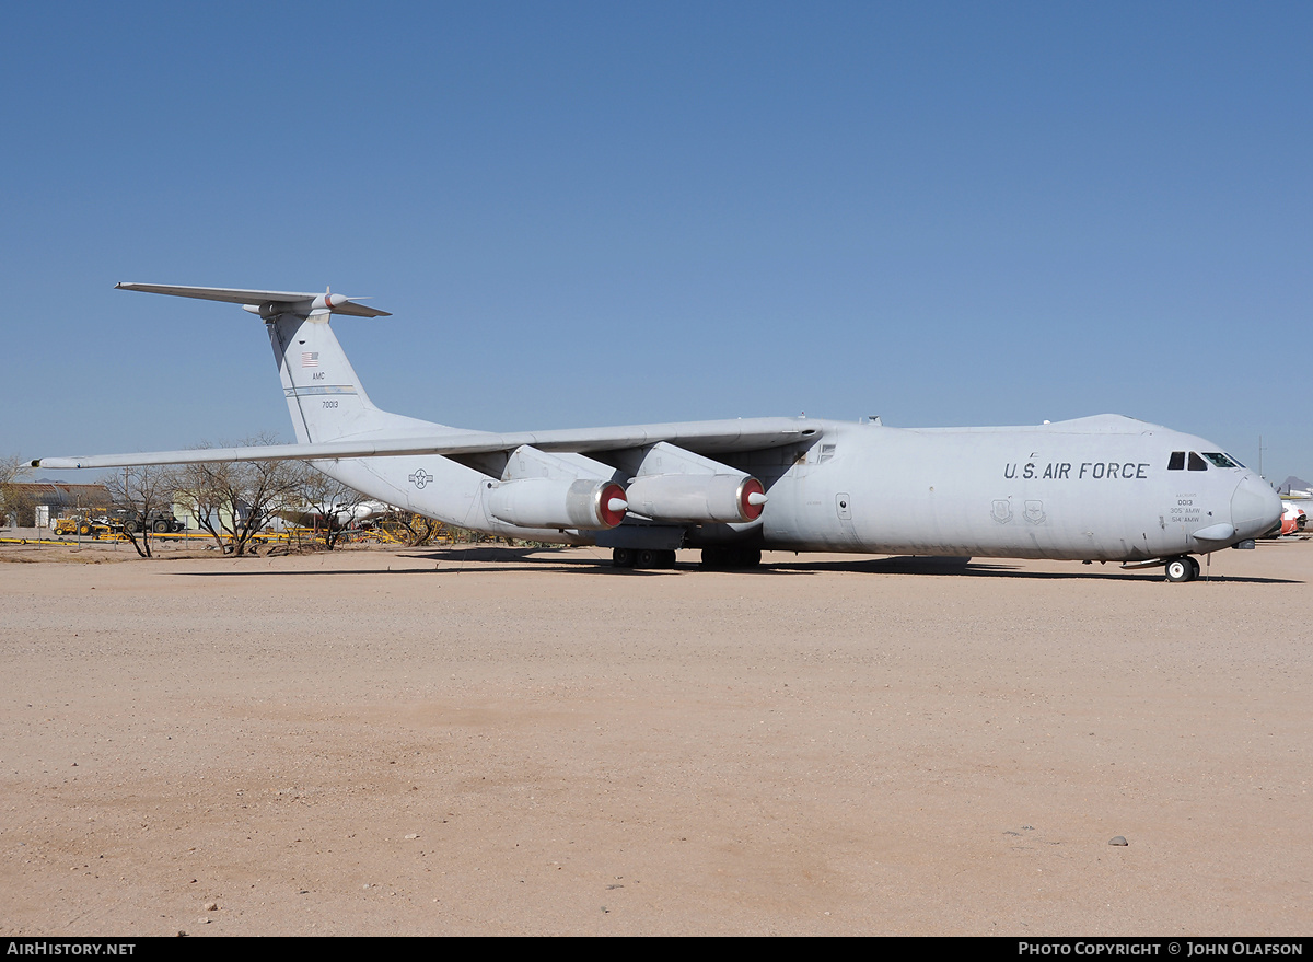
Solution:
[{"label": "entire grey U.S. Air Force transport jet with T-tail", "polygon": [[390,414],[361,386],[331,314],[387,317],[334,293],[118,284],[244,305],[264,321],[295,444],[92,457],[116,468],[306,460],[411,511],[494,535],[612,549],[618,566],[708,568],[762,551],[1120,561],[1199,574],[1253,547],[1281,502],[1217,444],[1115,414],[1035,427],[895,428],[747,418],[491,434]]}]

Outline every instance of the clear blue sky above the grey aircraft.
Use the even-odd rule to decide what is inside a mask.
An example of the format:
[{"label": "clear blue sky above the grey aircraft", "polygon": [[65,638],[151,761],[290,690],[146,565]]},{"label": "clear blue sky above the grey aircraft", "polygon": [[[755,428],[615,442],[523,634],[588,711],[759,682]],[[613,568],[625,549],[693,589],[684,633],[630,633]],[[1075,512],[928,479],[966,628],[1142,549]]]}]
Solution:
[{"label": "clear blue sky above the grey aircraft", "polygon": [[0,453],[1116,411],[1313,476],[1309,4],[11,4]]}]

